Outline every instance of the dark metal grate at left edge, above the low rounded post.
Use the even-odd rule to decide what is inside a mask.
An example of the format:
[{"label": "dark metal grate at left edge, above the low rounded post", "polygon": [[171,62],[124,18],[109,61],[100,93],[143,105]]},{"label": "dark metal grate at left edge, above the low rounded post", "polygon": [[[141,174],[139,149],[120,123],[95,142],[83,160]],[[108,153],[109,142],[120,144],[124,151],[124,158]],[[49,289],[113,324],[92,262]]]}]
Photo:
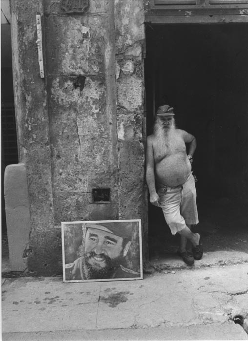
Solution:
[{"label": "dark metal grate at left edge, above the low rounded post", "polygon": [[18,163],[16,117],[13,102],[1,103],[1,140],[4,165]]}]

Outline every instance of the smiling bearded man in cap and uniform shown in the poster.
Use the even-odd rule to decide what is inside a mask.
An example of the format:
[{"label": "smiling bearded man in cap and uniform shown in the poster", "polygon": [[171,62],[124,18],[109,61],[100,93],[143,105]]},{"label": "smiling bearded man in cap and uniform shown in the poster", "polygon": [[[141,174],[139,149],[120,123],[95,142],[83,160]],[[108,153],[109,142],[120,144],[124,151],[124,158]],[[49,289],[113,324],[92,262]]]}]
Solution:
[{"label": "smiling bearded man in cap and uniform shown in the poster", "polygon": [[78,258],[65,264],[65,281],[140,278],[126,267],[125,257],[135,231],[132,222],[101,222],[82,225]]}]

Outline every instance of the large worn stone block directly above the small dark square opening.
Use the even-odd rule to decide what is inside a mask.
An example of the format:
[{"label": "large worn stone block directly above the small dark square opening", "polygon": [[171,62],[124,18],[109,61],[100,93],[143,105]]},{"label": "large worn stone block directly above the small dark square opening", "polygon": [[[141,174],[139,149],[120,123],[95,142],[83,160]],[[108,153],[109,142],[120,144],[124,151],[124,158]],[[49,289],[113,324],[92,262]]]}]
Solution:
[{"label": "large worn stone block directly above the small dark square opening", "polygon": [[102,182],[112,183],[110,175],[115,172],[103,79],[87,77],[82,90],[75,89],[75,81],[75,77],[48,81],[53,185],[57,191],[85,192],[91,182],[97,187]]}]

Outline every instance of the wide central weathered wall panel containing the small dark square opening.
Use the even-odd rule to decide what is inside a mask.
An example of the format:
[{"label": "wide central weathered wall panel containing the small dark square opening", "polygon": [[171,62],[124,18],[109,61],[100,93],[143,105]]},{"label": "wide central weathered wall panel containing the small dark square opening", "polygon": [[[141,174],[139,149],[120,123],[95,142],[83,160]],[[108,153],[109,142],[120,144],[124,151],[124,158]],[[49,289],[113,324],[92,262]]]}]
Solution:
[{"label": "wide central weathered wall panel containing the small dark square opening", "polygon": [[[55,225],[118,218],[115,65],[111,2],[91,1],[83,15],[45,2]],[[110,204],[91,204],[93,188]]]}]

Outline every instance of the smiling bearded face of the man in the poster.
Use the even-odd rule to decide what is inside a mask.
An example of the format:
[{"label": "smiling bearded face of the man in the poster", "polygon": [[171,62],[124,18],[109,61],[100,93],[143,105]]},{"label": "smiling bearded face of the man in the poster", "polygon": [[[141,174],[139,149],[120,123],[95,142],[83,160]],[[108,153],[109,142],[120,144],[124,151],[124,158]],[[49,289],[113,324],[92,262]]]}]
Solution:
[{"label": "smiling bearded face of the man in the poster", "polygon": [[129,246],[130,242],[124,245],[124,239],[107,228],[89,227],[85,237],[85,262],[90,277],[109,278],[109,274],[122,263]]}]

